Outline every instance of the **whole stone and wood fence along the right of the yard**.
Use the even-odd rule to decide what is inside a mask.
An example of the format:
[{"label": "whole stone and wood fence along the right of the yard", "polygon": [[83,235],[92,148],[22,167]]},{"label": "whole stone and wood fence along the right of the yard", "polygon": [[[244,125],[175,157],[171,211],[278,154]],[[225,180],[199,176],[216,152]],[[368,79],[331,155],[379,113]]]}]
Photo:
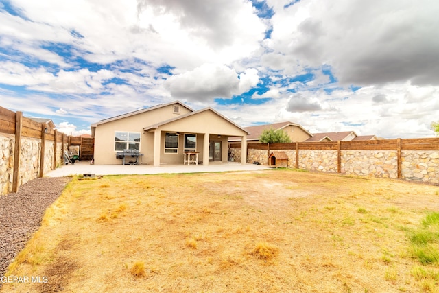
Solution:
[{"label": "whole stone and wood fence along the right of the yard", "polygon": [[[241,143],[229,148],[239,154]],[[439,183],[439,138],[248,143],[247,148],[247,163],[268,165],[270,152],[276,150],[287,154],[291,168]]]}]

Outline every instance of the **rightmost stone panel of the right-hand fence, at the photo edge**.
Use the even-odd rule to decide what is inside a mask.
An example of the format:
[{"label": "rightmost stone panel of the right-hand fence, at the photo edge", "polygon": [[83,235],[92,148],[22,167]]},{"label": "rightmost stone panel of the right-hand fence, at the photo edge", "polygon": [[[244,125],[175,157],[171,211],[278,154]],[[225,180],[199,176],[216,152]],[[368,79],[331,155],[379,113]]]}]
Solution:
[{"label": "rightmost stone panel of the right-hand fence, at the photo edge", "polygon": [[401,177],[429,183],[439,183],[439,151],[401,152]]}]

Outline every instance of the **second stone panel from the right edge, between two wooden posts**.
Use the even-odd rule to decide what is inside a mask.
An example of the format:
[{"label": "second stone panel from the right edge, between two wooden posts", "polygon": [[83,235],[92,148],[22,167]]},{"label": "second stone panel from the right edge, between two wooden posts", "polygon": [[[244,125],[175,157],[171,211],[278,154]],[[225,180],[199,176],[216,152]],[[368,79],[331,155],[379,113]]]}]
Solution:
[{"label": "second stone panel from the right edge, between two wooden posts", "polygon": [[345,150],[341,156],[343,174],[398,178],[398,162],[393,150]]}]

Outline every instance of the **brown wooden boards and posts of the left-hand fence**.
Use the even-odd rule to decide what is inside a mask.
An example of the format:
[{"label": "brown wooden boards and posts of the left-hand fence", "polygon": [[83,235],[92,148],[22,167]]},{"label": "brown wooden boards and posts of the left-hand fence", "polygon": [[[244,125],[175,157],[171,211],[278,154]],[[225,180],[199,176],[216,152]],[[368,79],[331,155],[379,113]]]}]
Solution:
[{"label": "brown wooden boards and posts of the left-hand fence", "polygon": [[[9,137],[11,139],[12,137],[14,138],[14,146],[12,148],[12,154],[14,156],[13,163],[10,162],[10,159],[4,158],[5,152],[0,150],[3,152],[3,158],[0,157],[0,160],[3,160],[2,163],[10,163],[10,166],[12,166],[12,192],[17,192],[19,185],[23,184],[20,180],[20,172],[27,172],[27,169],[33,168],[32,172],[38,173],[38,177],[43,177],[45,166],[48,166],[50,169],[56,169],[57,165],[64,162],[64,151],[69,150],[70,141],[74,140],[73,137],[70,137],[67,134],[58,132],[56,129],[51,129],[49,125],[44,122],[40,123],[27,117],[23,117],[22,112],[19,111],[15,113],[3,107],[0,107],[0,133],[12,134]],[[39,158],[38,163],[21,166],[22,161],[25,161],[21,154],[23,150],[23,139],[25,138],[38,139],[38,142],[40,142],[40,150],[33,153],[32,156],[39,156]],[[90,140],[93,141],[93,139],[88,139],[88,143]],[[46,152],[45,150],[48,141],[54,143],[53,150],[51,149],[50,152]],[[60,143],[60,146],[58,143]],[[82,141],[80,141],[80,143],[82,143]],[[92,142],[92,156],[93,144],[94,143]],[[6,153],[8,153],[9,156],[12,156],[11,152],[8,151]],[[52,154],[51,158],[48,158],[48,153]],[[5,174],[0,175],[3,176]],[[29,179],[32,179],[32,176],[29,177],[31,177]]]}]

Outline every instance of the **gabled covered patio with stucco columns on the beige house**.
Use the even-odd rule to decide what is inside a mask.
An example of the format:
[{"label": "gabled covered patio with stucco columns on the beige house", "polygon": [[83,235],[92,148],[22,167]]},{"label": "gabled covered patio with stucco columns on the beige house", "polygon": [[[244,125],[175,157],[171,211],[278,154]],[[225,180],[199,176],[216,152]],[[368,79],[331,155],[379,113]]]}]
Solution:
[{"label": "gabled covered patio with stucco columns on the beige house", "polygon": [[153,165],[184,164],[187,153],[194,154],[193,163],[228,161],[228,137],[239,136],[244,142],[242,164],[246,164],[248,132],[212,108],[205,108],[143,128],[144,134],[154,135]]}]

